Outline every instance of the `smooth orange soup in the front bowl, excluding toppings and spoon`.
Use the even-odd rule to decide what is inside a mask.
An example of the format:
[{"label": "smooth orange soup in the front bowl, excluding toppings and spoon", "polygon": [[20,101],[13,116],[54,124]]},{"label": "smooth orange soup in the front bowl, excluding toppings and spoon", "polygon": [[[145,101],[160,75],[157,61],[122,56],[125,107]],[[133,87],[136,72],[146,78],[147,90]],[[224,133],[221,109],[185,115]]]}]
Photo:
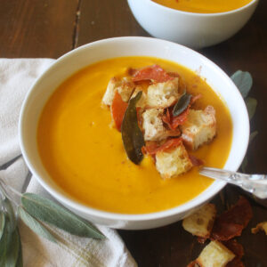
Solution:
[{"label": "smooth orange soup in the front bowl, excluding toppings and spoon", "polygon": [[158,64],[180,74],[190,93],[201,93],[197,108],[213,105],[217,136],[191,154],[206,166],[223,167],[231,148],[232,124],[228,109],[206,82],[190,69],[150,57],[101,61],[69,77],[44,106],[37,143],[47,172],[70,198],[101,210],[143,214],[181,205],[213,182],[198,167],[163,180],[150,157],[140,166],[127,157],[121,134],[110,126],[109,109],[101,99],[111,77],[123,77],[127,68]]}]

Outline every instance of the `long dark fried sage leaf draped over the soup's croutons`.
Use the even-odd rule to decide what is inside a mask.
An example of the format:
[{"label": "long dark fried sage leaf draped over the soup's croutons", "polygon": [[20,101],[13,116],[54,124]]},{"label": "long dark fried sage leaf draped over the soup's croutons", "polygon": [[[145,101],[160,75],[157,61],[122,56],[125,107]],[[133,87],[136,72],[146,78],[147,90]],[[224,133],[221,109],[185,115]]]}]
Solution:
[{"label": "long dark fried sage leaf draped over the soup's croutons", "polygon": [[138,126],[138,118],[135,107],[141,96],[142,91],[137,93],[133,99],[130,99],[121,125],[121,134],[126,154],[136,165],[140,164],[142,161],[142,147],[145,145],[142,131]]}]

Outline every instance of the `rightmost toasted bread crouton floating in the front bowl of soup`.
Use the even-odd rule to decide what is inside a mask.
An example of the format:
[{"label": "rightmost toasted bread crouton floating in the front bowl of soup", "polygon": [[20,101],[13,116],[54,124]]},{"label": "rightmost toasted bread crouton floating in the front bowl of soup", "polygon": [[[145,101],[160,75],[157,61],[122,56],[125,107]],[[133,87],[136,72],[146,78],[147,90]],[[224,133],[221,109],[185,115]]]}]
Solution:
[{"label": "rightmost toasted bread crouton floating in the front bowl of soup", "polygon": [[182,141],[190,150],[213,140],[216,134],[215,109],[207,106],[205,110],[190,109],[187,121],[181,126]]}]

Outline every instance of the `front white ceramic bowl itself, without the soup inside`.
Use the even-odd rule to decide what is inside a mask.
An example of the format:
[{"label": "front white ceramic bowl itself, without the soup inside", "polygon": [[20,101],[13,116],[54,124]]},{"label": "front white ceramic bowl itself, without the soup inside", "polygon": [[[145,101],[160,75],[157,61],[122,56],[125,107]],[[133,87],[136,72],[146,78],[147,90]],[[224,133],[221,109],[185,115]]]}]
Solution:
[{"label": "front white ceramic bowl itself, without the soup inside", "polygon": [[180,44],[147,37],[118,37],[86,44],[65,54],[39,77],[29,91],[20,113],[20,148],[28,167],[44,189],[62,205],[93,223],[120,229],[149,229],[174,223],[190,214],[212,198],[225,185],[214,182],[210,187],[181,206],[151,214],[114,214],[84,206],[68,198],[51,179],[42,165],[37,151],[36,128],[45,102],[73,73],[97,61],[121,56],[152,56],[175,61],[192,70],[200,71],[214,91],[222,97],[231,112],[233,139],[225,168],[236,171],[241,164],[248,143],[249,121],[246,105],[239,90],[222,69],[199,53]]}]

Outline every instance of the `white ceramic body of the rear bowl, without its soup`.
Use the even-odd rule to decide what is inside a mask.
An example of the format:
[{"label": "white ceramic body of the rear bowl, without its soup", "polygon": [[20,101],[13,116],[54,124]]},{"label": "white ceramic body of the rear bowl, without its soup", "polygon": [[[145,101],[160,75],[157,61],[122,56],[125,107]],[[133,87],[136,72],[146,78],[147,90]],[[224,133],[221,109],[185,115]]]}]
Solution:
[{"label": "white ceramic body of the rear bowl, without its soup", "polygon": [[255,12],[258,0],[220,13],[182,12],[151,0],[128,0],[128,4],[135,19],[151,36],[199,49],[219,44],[237,33]]}]

